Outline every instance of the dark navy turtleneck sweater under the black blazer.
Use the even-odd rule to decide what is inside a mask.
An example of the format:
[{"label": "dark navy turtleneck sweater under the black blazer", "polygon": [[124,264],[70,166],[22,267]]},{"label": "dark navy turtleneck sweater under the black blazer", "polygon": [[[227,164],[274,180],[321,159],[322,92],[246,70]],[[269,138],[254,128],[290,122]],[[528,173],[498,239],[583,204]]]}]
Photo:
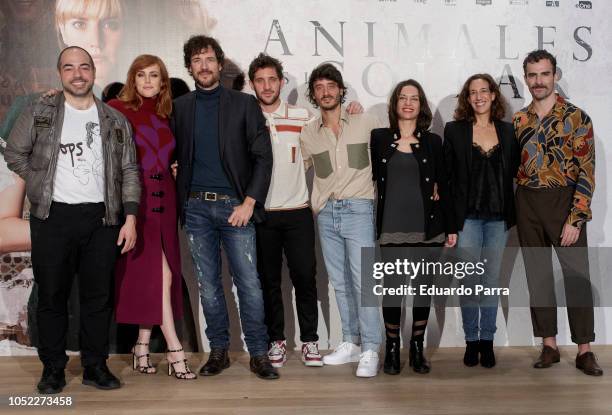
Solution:
[{"label": "dark navy turtleneck sweater under the black blazer", "polygon": [[221,85],[212,90],[196,88],[193,174],[191,190],[235,196],[223,170],[219,153],[219,97]]}]

